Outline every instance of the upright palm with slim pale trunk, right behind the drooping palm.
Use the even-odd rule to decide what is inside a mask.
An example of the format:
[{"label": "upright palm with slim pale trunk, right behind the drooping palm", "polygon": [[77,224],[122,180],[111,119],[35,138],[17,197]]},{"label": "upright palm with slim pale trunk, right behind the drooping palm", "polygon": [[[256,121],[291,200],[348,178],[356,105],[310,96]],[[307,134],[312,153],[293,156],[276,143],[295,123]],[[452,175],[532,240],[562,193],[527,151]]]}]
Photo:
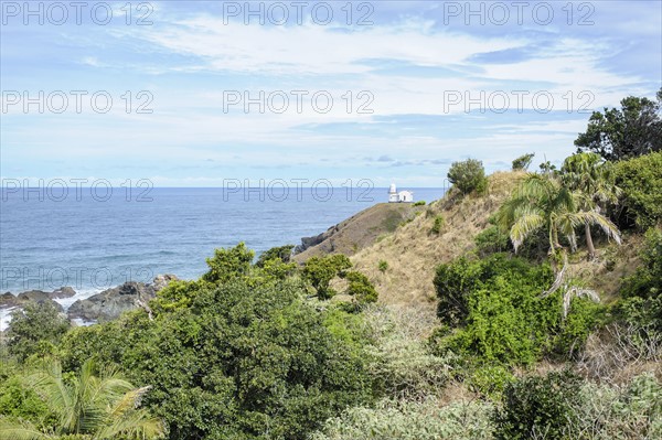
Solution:
[{"label": "upright palm with slim pale trunk, right behind the drooping palm", "polygon": [[[584,194],[580,208],[600,213],[607,203],[617,203],[621,190],[611,183],[611,167],[596,153],[578,153],[567,158],[560,169],[560,179],[572,191]],[[594,259],[596,248],[590,224],[585,223],[586,248],[588,258]]]}]

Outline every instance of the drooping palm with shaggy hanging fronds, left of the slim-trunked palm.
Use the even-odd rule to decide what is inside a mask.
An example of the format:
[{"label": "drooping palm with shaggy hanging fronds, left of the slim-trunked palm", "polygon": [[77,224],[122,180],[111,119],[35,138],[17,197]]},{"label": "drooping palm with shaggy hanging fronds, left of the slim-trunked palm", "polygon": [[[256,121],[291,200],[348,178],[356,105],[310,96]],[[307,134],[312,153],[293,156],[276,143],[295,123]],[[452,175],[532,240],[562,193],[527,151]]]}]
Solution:
[{"label": "drooping palm with shaggy hanging fronds, left of the slim-trunked palm", "polygon": [[528,173],[499,212],[500,224],[510,229],[515,253],[524,239],[545,228],[549,237],[549,254],[560,249],[559,234],[565,236],[574,251],[577,248],[575,229],[584,225],[598,225],[608,237],[620,243],[618,228],[597,211],[581,210],[587,197],[564,185],[552,173]]}]

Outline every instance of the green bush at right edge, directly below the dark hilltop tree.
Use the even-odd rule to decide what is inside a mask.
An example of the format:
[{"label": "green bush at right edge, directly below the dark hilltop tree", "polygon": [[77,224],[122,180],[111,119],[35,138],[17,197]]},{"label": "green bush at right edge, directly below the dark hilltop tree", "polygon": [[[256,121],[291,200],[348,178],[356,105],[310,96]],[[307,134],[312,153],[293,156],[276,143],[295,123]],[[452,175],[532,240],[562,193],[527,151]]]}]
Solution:
[{"label": "green bush at right edge, directly below the dark hilltop tree", "polygon": [[641,230],[662,222],[662,151],[616,163],[616,184],[623,191],[621,227]]}]

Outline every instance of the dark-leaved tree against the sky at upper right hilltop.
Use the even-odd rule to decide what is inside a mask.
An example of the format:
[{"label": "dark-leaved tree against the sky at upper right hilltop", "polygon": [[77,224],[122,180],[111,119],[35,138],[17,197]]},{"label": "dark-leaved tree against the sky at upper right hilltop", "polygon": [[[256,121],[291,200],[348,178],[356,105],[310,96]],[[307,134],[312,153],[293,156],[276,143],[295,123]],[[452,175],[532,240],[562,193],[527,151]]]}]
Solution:
[{"label": "dark-leaved tree against the sky at upper right hilltop", "polygon": [[575,146],[579,152],[592,151],[609,161],[636,158],[662,150],[662,88],[656,101],[629,96],[621,108],[594,111],[586,131]]}]

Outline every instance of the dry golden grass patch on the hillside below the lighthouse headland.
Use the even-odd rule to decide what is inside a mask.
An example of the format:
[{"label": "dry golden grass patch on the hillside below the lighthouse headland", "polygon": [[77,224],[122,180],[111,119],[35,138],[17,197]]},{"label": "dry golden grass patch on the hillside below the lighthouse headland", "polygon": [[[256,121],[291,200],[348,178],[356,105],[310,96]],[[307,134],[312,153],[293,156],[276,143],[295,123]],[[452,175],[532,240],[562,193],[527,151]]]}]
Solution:
[{"label": "dry golden grass patch on the hillside below the lighthouse headland", "polygon": [[[373,281],[382,302],[434,310],[435,268],[474,247],[476,235],[488,225],[490,215],[499,210],[523,175],[522,172],[492,174],[488,192],[482,196],[460,197],[449,192],[414,221],[383,236],[351,259]],[[437,215],[445,219],[438,235],[430,233]],[[381,260],[388,262],[385,272],[378,270]]]}]

